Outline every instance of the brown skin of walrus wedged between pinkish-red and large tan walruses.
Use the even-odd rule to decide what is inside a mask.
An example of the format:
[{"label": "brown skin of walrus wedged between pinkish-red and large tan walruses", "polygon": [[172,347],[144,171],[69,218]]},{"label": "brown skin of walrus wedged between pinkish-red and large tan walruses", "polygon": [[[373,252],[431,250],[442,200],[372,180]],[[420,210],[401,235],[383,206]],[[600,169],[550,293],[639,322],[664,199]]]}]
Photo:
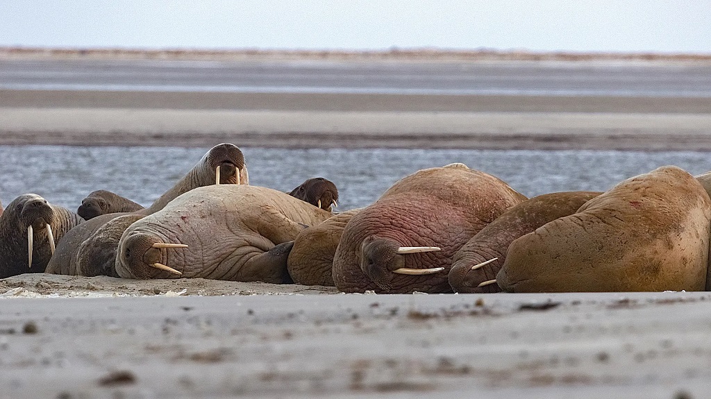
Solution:
[{"label": "brown skin of walrus wedged between pinkish-red and large tan walruses", "polygon": [[[477,285],[496,278],[506,261],[506,251],[513,240],[538,227],[577,212],[579,207],[601,192],[553,192],[525,200],[509,208],[481,229],[454,254],[449,285],[455,293],[498,293],[498,284]],[[472,266],[498,258],[476,270]]]}]

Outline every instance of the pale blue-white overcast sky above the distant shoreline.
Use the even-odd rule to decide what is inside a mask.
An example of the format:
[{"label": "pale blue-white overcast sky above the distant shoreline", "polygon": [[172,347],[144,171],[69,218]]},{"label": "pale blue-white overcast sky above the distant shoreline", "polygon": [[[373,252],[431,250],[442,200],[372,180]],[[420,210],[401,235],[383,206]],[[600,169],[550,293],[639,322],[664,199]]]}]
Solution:
[{"label": "pale blue-white overcast sky above the distant shoreline", "polygon": [[711,53],[711,0],[2,0],[0,45]]}]

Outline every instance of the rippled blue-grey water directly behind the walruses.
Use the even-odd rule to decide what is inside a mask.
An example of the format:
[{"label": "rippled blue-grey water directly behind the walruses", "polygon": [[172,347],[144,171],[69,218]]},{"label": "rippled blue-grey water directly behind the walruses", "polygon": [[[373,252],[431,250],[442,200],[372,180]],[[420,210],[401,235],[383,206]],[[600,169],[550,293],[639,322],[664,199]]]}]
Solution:
[{"label": "rippled blue-grey water directly behind the walruses", "polygon": [[[0,146],[0,200],[34,192],[75,210],[94,190],[148,206],[209,148]],[[363,207],[422,168],[461,162],[508,182],[523,195],[604,191],[662,165],[693,175],[711,170],[711,153],[676,151],[484,151],[242,148],[250,184],[290,191],[309,177],[336,183],[339,209]]]}]

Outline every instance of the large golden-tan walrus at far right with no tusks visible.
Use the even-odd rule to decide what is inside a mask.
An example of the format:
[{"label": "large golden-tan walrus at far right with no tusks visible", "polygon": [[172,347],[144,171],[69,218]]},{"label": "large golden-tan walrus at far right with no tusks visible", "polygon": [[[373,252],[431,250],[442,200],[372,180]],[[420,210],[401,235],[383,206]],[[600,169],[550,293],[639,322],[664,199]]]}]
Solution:
[{"label": "large golden-tan walrus at far right with no tusks visible", "polygon": [[496,281],[511,293],[703,290],[710,223],[700,182],[665,166],[513,241]]}]

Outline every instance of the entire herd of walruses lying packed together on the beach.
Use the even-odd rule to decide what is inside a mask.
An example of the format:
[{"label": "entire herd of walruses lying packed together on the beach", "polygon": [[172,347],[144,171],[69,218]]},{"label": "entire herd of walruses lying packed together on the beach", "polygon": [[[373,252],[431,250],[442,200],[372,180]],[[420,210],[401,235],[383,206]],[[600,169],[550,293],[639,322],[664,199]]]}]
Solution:
[{"label": "entire herd of walruses lying packed together on the beach", "polygon": [[249,184],[220,144],[150,207],[97,190],[77,212],[0,204],[0,278],[21,273],[331,285],[344,293],[710,290],[711,172],[664,166],[606,192],[526,198],[461,163],[335,212],[314,177]]}]

